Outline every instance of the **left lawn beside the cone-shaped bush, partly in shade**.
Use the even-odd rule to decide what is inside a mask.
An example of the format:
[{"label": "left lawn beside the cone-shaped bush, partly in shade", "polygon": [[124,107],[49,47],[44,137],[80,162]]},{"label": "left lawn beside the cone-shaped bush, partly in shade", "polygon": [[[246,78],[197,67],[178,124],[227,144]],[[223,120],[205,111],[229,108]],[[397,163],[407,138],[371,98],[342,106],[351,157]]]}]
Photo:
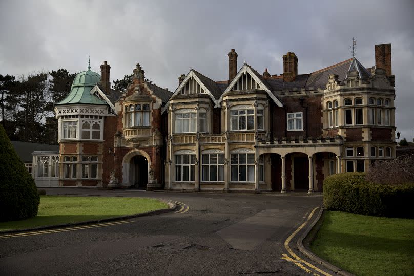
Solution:
[{"label": "left lawn beside the cone-shaped bush, partly in shade", "polygon": [[0,231],[100,220],[168,208],[149,198],[40,196],[37,216],[27,220],[0,222]]}]

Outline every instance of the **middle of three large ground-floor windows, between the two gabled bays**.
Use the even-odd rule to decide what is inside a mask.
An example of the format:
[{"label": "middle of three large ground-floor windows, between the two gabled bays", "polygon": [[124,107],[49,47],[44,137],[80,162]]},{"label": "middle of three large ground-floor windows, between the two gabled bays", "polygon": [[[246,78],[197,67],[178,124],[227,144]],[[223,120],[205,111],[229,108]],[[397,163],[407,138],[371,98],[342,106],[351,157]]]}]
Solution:
[{"label": "middle of three large ground-floor windows, between the two gabled bays", "polygon": [[208,150],[201,155],[202,181],[224,181],[224,153],[209,152],[217,151]]}]

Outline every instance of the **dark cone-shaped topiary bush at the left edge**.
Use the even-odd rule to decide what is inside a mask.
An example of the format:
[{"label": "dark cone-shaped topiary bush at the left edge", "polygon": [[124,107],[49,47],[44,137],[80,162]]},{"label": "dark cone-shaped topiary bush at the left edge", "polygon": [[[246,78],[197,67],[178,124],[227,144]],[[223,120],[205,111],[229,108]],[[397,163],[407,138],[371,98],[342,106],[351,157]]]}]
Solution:
[{"label": "dark cone-shaped topiary bush at the left edge", "polygon": [[39,203],[34,180],[0,125],[0,221],[34,217]]}]

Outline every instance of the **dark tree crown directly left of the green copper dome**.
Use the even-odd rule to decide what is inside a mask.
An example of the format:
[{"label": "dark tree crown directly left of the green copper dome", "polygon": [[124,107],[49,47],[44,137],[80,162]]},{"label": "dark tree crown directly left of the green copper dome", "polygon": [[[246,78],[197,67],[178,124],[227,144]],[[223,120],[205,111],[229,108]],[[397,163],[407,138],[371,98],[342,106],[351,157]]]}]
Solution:
[{"label": "dark tree crown directly left of the green copper dome", "polygon": [[70,92],[73,79],[76,74],[70,74],[66,69],[58,69],[50,72],[49,89],[54,103],[63,100]]}]

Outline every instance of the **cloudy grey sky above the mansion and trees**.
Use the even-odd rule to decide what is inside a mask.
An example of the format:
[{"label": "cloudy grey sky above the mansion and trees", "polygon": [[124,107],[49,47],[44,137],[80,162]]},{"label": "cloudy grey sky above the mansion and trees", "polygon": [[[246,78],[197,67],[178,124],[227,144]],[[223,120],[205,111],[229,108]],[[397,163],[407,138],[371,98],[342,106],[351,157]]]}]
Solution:
[{"label": "cloudy grey sky above the mansion and trees", "polygon": [[174,91],[191,68],[228,79],[230,49],[258,72],[283,72],[295,52],[305,74],[356,57],[375,65],[376,44],[391,43],[396,127],[414,138],[414,1],[0,1],[0,74],[65,68],[100,73],[111,82],[132,74]]}]

